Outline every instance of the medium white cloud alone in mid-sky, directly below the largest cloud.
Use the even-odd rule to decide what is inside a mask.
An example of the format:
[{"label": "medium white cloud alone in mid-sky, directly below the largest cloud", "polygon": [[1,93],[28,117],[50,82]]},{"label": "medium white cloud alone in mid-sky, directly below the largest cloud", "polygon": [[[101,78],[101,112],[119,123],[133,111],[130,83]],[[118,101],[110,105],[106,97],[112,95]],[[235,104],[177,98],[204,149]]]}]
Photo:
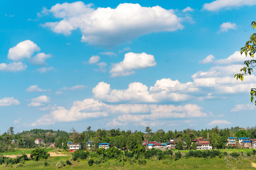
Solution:
[{"label": "medium white cloud alone in mid-sky, directly below the largest cloud", "polygon": [[128,52],[125,54],[124,60],[112,64],[110,70],[111,76],[128,76],[135,74],[134,69],[142,69],[147,67],[153,67],[156,65],[153,55],[143,53]]}]

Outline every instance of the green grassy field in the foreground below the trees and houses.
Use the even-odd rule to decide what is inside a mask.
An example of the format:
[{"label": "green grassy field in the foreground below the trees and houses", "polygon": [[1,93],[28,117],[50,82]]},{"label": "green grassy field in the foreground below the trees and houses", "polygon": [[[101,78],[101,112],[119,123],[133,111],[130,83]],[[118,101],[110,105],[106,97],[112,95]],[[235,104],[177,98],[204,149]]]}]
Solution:
[{"label": "green grassy field in the foreground below the trees and houses", "polygon": [[[31,153],[31,150],[17,150],[15,154],[20,154],[22,152]],[[54,149],[50,148],[47,151],[56,152]],[[221,150],[225,152],[239,152],[238,150]],[[245,151],[249,151],[248,149]],[[241,150],[240,152],[243,152]],[[7,153],[4,153],[7,154]],[[13,154],[13,153],[12,153]],[[12,165],[12,167],[5,167],[5,165],[0,165],[0,170],[53,170],[58,169],[56,167],[56,163],[64,162],[66,160],[71,160],[72,154],[64,153],[67,156],[58,156],[58,157],[49,157],[46,161],[26,161],[23,165],[19,166],[19,164]],[[9,153],[11,155],[11,153]],[[137,163],[130,164],[129,161],[117,162],[114,160],[109,160],[103,162],[101,164],[93,164],[91,167],[88,165],[88,161],[71,161],[72,165],[65,165],[61,169],[64,170],[163,170],[163,169],[172,169],[172,170],[253,170],[251,167],[251,162],[256,162],[255,156],[247,157],[247,158],[181,158],[180,160],[174,161],[174,159],[165,159],[158,161],[156,159],[146,160],[145,166],[139,166]],[[47,162],[47,165],[45,165]]]}]

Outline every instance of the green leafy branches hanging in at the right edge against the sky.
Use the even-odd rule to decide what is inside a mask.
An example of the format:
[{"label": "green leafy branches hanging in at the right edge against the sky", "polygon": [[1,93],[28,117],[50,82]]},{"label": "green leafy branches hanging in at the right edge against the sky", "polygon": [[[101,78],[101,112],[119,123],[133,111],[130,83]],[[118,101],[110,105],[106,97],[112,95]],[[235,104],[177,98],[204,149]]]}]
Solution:
[{"label": "green leafy branches hanging in at the right edge against the sky", "polygon": [[[253,21],[251,23],[253,29],[256,29],[256,22]],[[247,56],[249,54],[250,57],[254,58],[254,54],[256,52],[256,33],[252,34],[250,40],[246,42],[245,46],[240,49],[240,53],[245,53]],[[249,74],[251,75],[253,72],[253,68],[256,67],[256,60],[249,59],[244,62],[245,67],[240,69],[240,72],[235,74],[234,78],[237,77],[237,80],[240,79],[241,81],[244,80],[244,76]],[[254,101],[254,97],[256,97],[256,88],[251,88],[251,102]],[[256,105],[256,100],[255,100]]]}]

